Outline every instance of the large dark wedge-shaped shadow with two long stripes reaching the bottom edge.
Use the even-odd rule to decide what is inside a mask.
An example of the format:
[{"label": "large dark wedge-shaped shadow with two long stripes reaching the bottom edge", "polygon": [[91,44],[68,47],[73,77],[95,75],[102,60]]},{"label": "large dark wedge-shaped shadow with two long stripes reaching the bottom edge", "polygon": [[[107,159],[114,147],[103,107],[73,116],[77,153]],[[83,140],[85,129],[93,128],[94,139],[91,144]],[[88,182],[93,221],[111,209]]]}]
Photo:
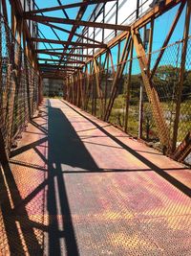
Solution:
[{"label": "large dark wedge-shaped shadow with two long stripes reaching the bottom edge", "polygon": [[[90,153],[77,136],[73,126],[59,108],[49,107],[48,150],[48,210],[50,217],[49,245],[52,255],[61,255],[59,223],[55,216],[61,215],[63,237],[67,255],[78,255],[74,226],[68,201],[63,168],[94,170],[98,168]],[[57,184],[57,187],[55,186]],[[59,202],[56,204],[56,194]],[[58,210],[57,210],[58,209]]]}]

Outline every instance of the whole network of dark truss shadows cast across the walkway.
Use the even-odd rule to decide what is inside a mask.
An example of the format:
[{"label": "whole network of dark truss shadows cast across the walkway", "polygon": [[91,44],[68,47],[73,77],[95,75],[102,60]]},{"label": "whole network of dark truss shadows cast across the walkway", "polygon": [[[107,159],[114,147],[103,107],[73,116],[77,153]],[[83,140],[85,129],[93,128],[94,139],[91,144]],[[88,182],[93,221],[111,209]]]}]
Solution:
[{"label": "whole network of dark truss shadows cast across the walkway", "polygon": [[[68,105],[64,103],[65,105]],[[109,173],[109,172],[135,172],[135,171],[155,171],[168,182],[180,189],[187,196],[191,196],[188,187],[180,183],[179,180],[168,175],[164,170],[157,165],[150,162],[121,142],[117,137],[110,134],[104,128],[100,127],[93,120],[77,111],[71,105],[68,105],[77,114],[92,123],[97,129],[102,131],[105,136],[113,139],[117,145],[129,151],[138,160],[147,165],[148,169],[142,170],[103,170],[99,169],[95,160],[89,151],[85,148],[83,142],[77,135],[74,127],[71,125],[65,114],[59,109],[49,105],[49,121],[48,134],[45,128],[41,129],[40,125],[36,123],[35,127],[44,132],[45,138],[25,145],[20,149],[12,152],[12,157],[30,149],[33,149],[46,163],[47,168],[32,165],[22,161],[22,154],[19,159],[11,159],[12,165],[17,165],[19,168],[29,168],[29,180],[32,178],[30,170],[42,172],[45,174],[44,180],[35,186],[32,192],[26,197],[22,198],[19,186],[16,184],[15,178],[9,166],[4,167],[4,171],[0,172],[1,180],[1,210],[3,215],[3,222],[8,238],[11,253],[16,255],[25,255],[25,247],[23,241],[28,248],[30,255],[66,255],[77,256],[79,250],[76,242],[74,224],[72,213],[70,209],[69,195],[67,195],[66,175],[69,174],[84,174],[84,173]],[[38,150],[41,143],[48,141],[48,156],[44,155]],[[167,169],[165,169],[167,170]],[[170,170],[170,169],[169,169]],[[103,172],[104,171],[104,172]],[[42,214],[48,214],[48,223],[32,221],[27,211],[27,205],[33,198],[37,198],[41,191],[45,193],[47,201],[47,209],[44,209]],[[73,195],[70,195],[73,197]],[[12,201],[11,201],[12,200]],[[42,207],[45,207],[43,205]],[[18,228],[19,225],[19,228]],[[44,244],[48,252],[43,251],[42,246],[38,243],[34,228],[45,233]],[[22,233],[22,238],[20,233]],[[12,235],[13,234],[13,235]]]}]

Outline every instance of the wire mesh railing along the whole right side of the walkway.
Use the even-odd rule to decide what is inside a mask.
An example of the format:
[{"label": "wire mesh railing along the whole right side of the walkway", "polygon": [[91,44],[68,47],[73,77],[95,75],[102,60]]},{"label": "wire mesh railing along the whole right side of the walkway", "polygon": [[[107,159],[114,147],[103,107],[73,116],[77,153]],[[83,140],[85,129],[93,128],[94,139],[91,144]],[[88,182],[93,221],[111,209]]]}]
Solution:
[{"label": "wire mesh railing along the whole right side of the walkway", "polygon": [[[175,120],[178,98],[180,93],[180,65],[183,40],[168,45],[165,48],[158,68],[152,78],[152,86],[157,92],[159,106],[165,128],[169,134],[170,144],[179,147],[186,134],[191,130],[191,37],[187,41],[185,71],[181,88],[180,115],[178,136],[174,138]],[[155,66],[159,51],[150,54],[150,71]],[[148,55],[147,55],[148,58]],[[119,65],[121,65],[120,63]],[[117,76],[117,67],[101,69],[100,72],[88,75],[83,74],[82,88],[85,91],[86,104],[83,108],[103,119],[107,105],[112,97],[112,88]],[[97,88],[97,78],[99,88]],[[75,87],[74,87],[75,86]],[[98,90],[101,91],[98,92]],[[69,82],[70,95],[68,99],[74,102],[77,94],[77,81]],[[83,97],[84,97],[83,96]],[[78,103],[79,106],[82,106]],[[109,122],[124,129],[134,137],[147,141],[151,146],[163,150],[159,138],[159,128],[156,124],[153,108],[146,93],[140,72],[138,58],[128,59],[121,78],[117,81],[117,95],[109,117]],[[186,157],[191,163],[191,156]]]}]

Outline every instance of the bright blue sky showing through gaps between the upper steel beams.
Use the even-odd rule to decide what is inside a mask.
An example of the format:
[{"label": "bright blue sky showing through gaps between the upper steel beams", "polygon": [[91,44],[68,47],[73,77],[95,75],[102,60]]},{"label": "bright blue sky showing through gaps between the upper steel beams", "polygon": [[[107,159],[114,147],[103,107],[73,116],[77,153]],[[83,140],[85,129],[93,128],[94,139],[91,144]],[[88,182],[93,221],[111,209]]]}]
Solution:
[{"label": "bright blue sky showing through gaps between the upper steel beams", "polygon": [[[63,1],[63,0],[61,0],[61,2],[63,4],[71,4],[71,3],[81,2],[81,0],[75,0],[75,1],[72,1],[72,0]],[[7,0],[7,3],[8,3],[8,8],[9,8],[9,1],[8,0]],[[53,7],[53,6],[58,5],[56,0],[47,0],[47,1],[35,0],[35,3],[38,5],[38,7],[40,9]],[[85,14],[82,18],[83,20],[87,20],[90,17],[92,11],[94,10],[94,7],[95,7],[94,5],[88,7],[87,11],[85,12]],[[170,29],[170,26],[172,24],[172,21],[173,21],[175,15],[176,15],[176,12],[178,11],[178,9],[179,9],[179,6],[175,7],[174,9],[172,9],[169,12],[165,12],[164,14],[162,14],[161,16],[159,16],[159,18],[157,18],[155,20],[155,33],[154,33],[154,39],[153,39],[153,51],[158,50],[162,46],[163,40],[164,40],[165,36],[167,35],[167,33]],[[79,10],[79,8],[67,9],[66,12],[68,13],[70,18],[74,19],[78,10]],[[45,15],[50,15],[50,16],[61,17],[61,18],[65,17],[64,13],[62,11],[45,12],[44,14]],[[10,14],[9,14],[9,16],[10,16]],[[177,25],[169,43],[178,41],[182,38],[183,27],[184,27],[184,16],[185,16],[185,8],[184,8],[183,12],[181,13],[179,23],[178,23],[178,25]],[[124,19],[125,19],[125,17],[124,17]],[[71,28],[72,28],[72,25],[66,25],[66,24],[64,24],[64,25],[54,24],[54,25],[56,25],[60,28],[67,29],[67,30],[71,30]],[[39,29],[40,29],[40,31],[42,31],[43,35],[45,35],[47,38],[56,39],[56,36],[53,34],[53,31],[48,26],[39,24]],[[81,29],[78,29],[77,33],[80,33],[80,31],[81,31]],[[56,31],[56,33],[62,40],[67,40],[68,34],[60,32],[60,31]],[[74,36],[73,40],[75,40],[75,39],[76,39],[76,36]],[[46,44],[46,45],[47,45],[48,48],[50,48],[49,44]],[[61,48],[62,45],[53,44],[53,47],[54,48]],[[45,48],[45,46],[42,43],[40,43],[39,48],[43,49],[43,48]],[[117,51],[114,49],[112,52],[113,52],[114,61],[116,62],[117,61]],[[50,57],[47,56],[47,55],[40,55],[40,58],[50,58]],[[56,57],[53,57],[53,58],[56,58]]]}]

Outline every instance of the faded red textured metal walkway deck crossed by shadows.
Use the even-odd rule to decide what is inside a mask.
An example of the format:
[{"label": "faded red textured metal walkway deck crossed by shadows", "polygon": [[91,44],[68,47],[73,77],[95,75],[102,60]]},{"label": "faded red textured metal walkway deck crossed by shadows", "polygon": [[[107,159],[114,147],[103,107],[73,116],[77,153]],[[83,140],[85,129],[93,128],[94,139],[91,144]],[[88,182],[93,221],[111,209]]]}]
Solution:
[{"label": "faded red textured metal walkway deck crossed by shadows", "polygon": [[41,107],[0,180],[1,255],[191,255],[190,170],[73,105]]}]

